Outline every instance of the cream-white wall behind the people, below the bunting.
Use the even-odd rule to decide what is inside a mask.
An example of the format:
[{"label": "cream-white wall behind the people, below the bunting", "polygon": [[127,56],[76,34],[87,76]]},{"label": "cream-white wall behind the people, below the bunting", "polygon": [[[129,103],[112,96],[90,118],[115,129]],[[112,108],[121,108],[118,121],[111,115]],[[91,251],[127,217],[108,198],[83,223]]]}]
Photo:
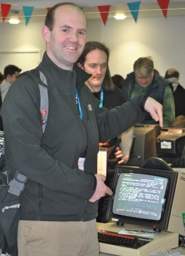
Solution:
[{"label": "cream-white wall behind the people, below the bunting", "polygon": [[[137,58],[151,56],[161,76],[164,76],[168,68],[177,68],[180,83],[185,87],[184,24],[185,17],[138,17],[137,23],[133,18],[123,21],[108,19],[106,25],[101,19],[88,20],[87,41],[101,41],[110,48],[109,65],[112,76],[121,74],[125,77],[133,71],[133,63]],[[0,51],[40,49],[43,54],[45,42],[41,27],[42,23],[39,22],[28,23],[27,27],[25,24],[1,24]]]}]

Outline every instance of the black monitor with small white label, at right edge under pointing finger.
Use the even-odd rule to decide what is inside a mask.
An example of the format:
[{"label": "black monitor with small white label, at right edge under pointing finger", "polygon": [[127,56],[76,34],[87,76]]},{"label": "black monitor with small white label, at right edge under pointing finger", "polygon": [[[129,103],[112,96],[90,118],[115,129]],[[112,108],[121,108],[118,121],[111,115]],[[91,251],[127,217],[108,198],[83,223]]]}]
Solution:
[{"label": "black monitor with small white label, at right edge under pointing finger", "polygon": [[185,128],[164,128],[156,140],[157,156],[172,167],[185,167]]}]

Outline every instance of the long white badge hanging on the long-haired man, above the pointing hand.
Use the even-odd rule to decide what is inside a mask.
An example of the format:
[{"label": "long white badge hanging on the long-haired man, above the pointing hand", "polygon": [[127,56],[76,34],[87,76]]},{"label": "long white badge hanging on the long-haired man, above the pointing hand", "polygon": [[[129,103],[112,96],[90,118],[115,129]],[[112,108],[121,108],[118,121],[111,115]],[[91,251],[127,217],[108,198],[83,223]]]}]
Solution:
[{"label": "long white badge hanging on the long-haired man, above the pointing hand", "polygon": [[107,176],[107,147],[99,147],[97,173]]}]

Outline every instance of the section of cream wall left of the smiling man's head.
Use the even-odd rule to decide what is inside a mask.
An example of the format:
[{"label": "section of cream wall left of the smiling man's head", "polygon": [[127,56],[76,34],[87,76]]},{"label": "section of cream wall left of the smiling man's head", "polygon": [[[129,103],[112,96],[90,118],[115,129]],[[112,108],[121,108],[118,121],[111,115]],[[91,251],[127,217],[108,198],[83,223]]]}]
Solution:
[{"label": "section of cream wall left of the smiling man's head", "polygon": [[[8,64],[17,65],[23,71],[35,68],[38,65],[38,59],[41,61],[42,54],[45,51],[45,41],[42,39],[41,23],[30,23],[26,27],[25,24],[0,25],[0,71],[4,72],[4,67]],[[41,54],[34,54],[32,51],[39,51]],[[5,58],[5,53],[8,51],[8,58]],[[28,53],[20,54],[20,52],[32,52],[31,58],[28,57]],[[17,52],[17,54],[16,54]],[[17,55],[17,59],[16,59]],[[21,56],[25,55],[25,57]],[[35,55],[35,57],[34,57]],[[40,56],[38,56],[40,55]],[[3,63],[5,60],[5,63]]]}]

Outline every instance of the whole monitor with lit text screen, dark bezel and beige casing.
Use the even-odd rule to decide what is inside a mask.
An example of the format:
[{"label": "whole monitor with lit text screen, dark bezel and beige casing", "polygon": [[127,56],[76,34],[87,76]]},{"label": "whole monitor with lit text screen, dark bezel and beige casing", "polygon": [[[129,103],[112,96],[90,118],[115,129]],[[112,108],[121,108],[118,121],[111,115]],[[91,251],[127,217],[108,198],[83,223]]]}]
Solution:
[{"label": "whole monitor with lit text screen, dark bezel and beige casing", "polygon": [[184,195],[181,172],[118,166],[106,218],[185,235]]}]

